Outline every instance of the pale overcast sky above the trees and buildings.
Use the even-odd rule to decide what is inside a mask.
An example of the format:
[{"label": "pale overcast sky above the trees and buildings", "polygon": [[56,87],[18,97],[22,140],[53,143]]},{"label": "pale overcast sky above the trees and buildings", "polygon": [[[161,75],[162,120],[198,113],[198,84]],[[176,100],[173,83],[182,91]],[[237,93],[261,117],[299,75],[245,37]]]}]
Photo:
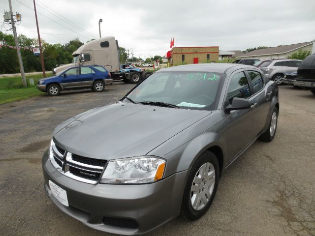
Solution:
[{"label": "pale overcast sky above the trees and buildings", "polygon": [[[23,17],[18,34],[37,37],[32,0],[19,1],[12,0],[13,12]],[[41,38],[49,43],[97,38],[102,18],[102,36],[114,35],[141,58],[164,56],[173,35],[177,47],[221,50],[315,39],[315,0],[36,0],[36,8]],[[7,0],[0,9],[9,10]]]}]

